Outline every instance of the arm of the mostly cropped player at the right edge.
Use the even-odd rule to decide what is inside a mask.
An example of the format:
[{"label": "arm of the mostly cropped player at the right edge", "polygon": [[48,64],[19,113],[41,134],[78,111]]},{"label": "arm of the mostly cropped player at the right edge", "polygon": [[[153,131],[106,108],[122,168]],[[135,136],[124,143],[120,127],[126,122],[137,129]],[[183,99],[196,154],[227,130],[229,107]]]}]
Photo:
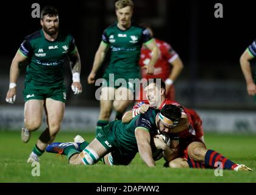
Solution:
[{"label": "arm of the mostly cropped player at the right edge", "polygon": [[246,80],[247,92],[250,96],[256,94],[256,86],[254,80],[252,79],[251,65],[250,60],[253,59],[256,55],[256,41],[243,52],[240,57],[240,66]]}]

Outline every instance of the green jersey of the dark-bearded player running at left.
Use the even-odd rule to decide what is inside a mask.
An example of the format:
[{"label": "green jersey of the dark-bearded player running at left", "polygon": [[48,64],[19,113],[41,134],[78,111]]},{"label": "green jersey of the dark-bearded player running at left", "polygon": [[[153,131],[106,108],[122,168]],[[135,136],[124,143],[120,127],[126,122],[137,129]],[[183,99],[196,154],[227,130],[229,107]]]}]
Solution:
[{"label": "green jersey of the dark-bearded player running at left", "polygon": [[59,34],[55,41],[46,40],[43,30],[28,35],[18,52],[29,59],[26,81],[37,85],[59,85],[63,83],[63,62],[67,54],[76,51],[71,35]]}]

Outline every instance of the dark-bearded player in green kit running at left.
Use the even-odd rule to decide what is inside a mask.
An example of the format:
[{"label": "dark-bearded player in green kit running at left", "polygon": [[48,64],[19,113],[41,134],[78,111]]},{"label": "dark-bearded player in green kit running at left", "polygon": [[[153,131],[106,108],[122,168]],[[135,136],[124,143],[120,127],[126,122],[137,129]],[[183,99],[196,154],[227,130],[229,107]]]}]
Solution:
[{"label": "dark-bearded player in green kit running at left", "polygon": [[41,133],[27,162],[38,161],[46,146],[59,132],[63,119],[66,88],[63,84],[63,62],[69,58],[72,65],[74,94],[82,92],[80,57],[71,35],[59,33],[59,12],[51,6],[41,10],[41,30],[25,38],[10,66],[10,86],[5,100],[15,102],[19,64],[28,61],[24,96],[24,127],[21,139],[29,141],[31,132],[41,126],[45,110],[48,127]]}]

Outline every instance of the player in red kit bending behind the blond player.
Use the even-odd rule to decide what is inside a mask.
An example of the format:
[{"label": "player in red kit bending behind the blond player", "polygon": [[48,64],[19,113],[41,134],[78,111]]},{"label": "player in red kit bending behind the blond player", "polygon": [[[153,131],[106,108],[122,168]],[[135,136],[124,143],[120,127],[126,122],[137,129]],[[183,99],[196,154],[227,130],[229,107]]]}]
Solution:
[{"label": "player in red kit bending behind the blond player", "polygon": [[[153,31],[149,26],[144,26],[146,29],[149,30],[152,37],[154,37]],[[151,78],[160,78],[165,81],[166,85],[166,98],[171,100],[175,99],[175,89],[174,89],[174,81],[179,77],[182,69],[183,63],[180,59],[179,55],[176,51],[171,47],[170,44],[166,43],[165,41],[155,39],[157,43],[157,47],[160,51],[159,58],[154,66],[154,73],[146,74],[144,69],[151,60],[152,54],[151,51],[143,47],[141,48],[141,55],[140,55],[140,66],[141,66],[141,74],[142,77],[145,79]],[[171,65],[171,66],[170,66]],[[146,100],[146,97],[143,96],[143,88],[140,91],[140,100]]]}]

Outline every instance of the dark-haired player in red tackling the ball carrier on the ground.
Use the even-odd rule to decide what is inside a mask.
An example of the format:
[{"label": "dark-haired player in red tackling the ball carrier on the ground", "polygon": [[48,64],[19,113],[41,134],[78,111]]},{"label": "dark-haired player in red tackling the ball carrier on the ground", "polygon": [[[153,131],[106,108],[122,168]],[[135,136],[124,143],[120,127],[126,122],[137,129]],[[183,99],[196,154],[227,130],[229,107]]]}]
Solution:
[{"label": "dark-haired player in red tackling the ball carrier on the ground", "polygon": [[[149,107],[162,108],[163,105],[176,105],[180,108],[181,112],[184,113],[185,110],[177,104],[177,102],[165,99],[165,83],[161,83],[161,86],[157,85],[157,82],[149,83],[148,87],[145,88],[148,102],[146,102],[146,104],[140,103],[136,105],[132,112],[125,113],[122,120],[127,122],[138,113],[147,112]],[[161,94],[160,98],[159,94]],[[199,135],[200,134],[202,135],[202,133],[199,133]],[[168,135],[171,135],[171,133],[168,133]],[[191,126],[189,128],[184,127],[183,130],[179,132],[179,151],[179,158],[169,161],[165,166],[172,168],[217,168],[218,162],[221,162],[223,169],[252,171],[251,168],[247,168],[245,165],[233,163],[233,161],[218,152],[207,149],[204,141],[191,133]]]}]

